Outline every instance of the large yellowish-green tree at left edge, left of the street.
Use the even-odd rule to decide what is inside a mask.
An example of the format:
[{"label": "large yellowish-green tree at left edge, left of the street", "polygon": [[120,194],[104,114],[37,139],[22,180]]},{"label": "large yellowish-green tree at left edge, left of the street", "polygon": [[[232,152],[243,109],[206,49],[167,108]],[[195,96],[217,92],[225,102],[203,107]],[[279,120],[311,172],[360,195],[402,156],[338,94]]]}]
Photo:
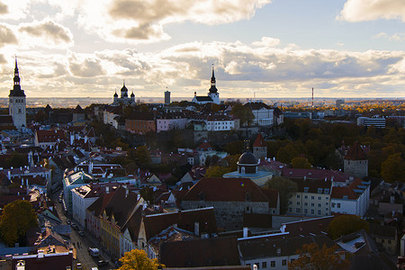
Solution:
[{"label": "large yellowish-green tree at left edge, left of the street", "polygon": [[2,238],[9,246],[16,242],[24,244],[28,229],[38,226],[37,214],[30,202],[15,201],[4,206],[0,229]]}]

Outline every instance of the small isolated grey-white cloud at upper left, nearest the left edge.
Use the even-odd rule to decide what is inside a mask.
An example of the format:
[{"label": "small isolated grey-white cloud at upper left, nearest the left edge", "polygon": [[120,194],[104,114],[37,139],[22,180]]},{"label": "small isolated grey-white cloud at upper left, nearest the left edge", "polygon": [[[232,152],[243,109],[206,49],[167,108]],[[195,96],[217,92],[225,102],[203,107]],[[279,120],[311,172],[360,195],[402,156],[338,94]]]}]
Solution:
[{"label": "small isolated grey-white cloud at upper left, nearest the left edge", "polygon": [[49,19],[35,23],[22,23],[19,30],[40,40],[40,44],[43,44],[43,39],[55,45],[71,46],[73,44],[72,32],[63,25]]}]

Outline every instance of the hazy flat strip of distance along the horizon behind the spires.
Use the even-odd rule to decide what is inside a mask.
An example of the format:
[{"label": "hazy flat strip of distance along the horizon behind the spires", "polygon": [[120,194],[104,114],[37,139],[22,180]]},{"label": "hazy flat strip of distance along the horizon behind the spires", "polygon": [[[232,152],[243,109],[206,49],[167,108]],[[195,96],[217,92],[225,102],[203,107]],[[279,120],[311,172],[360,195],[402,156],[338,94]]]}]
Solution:
[{"label": "hazy flat strip of distance along the horizon behind the spires", "polygon": [[[329,97],[316,97],[314,102],[316,103],[335,103],[337,99],[341,98],[329,98]],[[401,99],[401,98],[398,98]],[[403,99],[403,98],[402,98]],[[171,101],[191,101],[190,96],[187,97],[171,97]],[[221,98],[221,101],[236,101],[245,103],[251,99],[249,98]],[[344,98],[344,100],[384,100],[383,98]],[[395,98],[387,98],[385,100],[395,100]],[[310,102],[310,98],[256,98],[255,101],[263,101],[264,103],[303,103]],[[140,98],[142,103],[163,103],[163,97],[142,97]],[[27,97],[27,107],[45,107],[47,104],[52,108],[75,108],[79,104],[82,108],[91,105],[92,103],[109,104],[112,103],[112,98],[109,97]],[[8,98],[0,98],[0,108],[8,107]]]}]

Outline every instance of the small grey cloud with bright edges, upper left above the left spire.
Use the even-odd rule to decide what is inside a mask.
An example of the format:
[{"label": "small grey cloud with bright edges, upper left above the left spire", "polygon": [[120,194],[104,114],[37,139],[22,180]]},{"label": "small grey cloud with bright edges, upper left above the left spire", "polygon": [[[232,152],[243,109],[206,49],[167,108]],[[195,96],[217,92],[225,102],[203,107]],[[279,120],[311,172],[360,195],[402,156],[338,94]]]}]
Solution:
[{"label": "small grey cloud with bright edges, upper left above the left spire", "polygon": [[51,21],[23,26],[20,30],[35,37],[49,37],[51,40],[54,40],[55,43],[59,43],[60,41],[69,43],[72,41],[72,34],[70,31]]}]

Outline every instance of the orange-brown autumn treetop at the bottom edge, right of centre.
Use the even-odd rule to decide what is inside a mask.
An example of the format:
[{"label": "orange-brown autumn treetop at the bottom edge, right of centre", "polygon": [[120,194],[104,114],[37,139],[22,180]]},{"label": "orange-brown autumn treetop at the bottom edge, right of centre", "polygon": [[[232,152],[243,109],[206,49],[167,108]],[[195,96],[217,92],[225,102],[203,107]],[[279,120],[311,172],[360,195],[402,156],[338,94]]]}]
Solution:
[{"label": "orange-brown autumn treetop at the bottom edge, right of centre", "polygon": [[311,243],[303,245],[302,249],[298,250],[300,257],[288,264],[288,269],[316,269],[316,270],[331,270],[331,269],[347,269],[349,261],[342,259],[342,254],[336,252],[338,246],[322,248],[318,244]]}]

